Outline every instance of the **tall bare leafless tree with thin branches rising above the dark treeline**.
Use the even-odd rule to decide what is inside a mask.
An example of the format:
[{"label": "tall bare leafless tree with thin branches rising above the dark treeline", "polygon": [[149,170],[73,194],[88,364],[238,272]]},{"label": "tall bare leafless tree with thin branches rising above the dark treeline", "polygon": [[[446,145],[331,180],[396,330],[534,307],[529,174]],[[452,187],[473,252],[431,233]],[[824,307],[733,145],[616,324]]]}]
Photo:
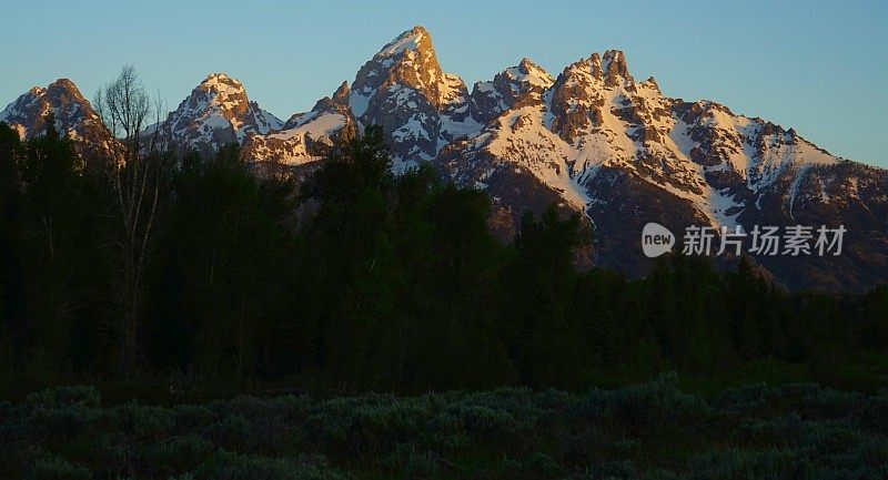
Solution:
[{"label": "tall bare leafless tree with thin branches rising above the dark treeline", "polygon": [[[115,279],[118,327],[123,367],[132,369],[138,361],[142,283],[161,210],[161,187],[170,164],[158,149],[160,102],[152,105],[132,67],[124,67],[117,79],[99,89],[94,103],[102,122],[117,139],[108,171],[114,193],[114,217],[120,227],[113,242],[120,261]],[[144,132],[152,113],[157,124],[153,131]]]}]

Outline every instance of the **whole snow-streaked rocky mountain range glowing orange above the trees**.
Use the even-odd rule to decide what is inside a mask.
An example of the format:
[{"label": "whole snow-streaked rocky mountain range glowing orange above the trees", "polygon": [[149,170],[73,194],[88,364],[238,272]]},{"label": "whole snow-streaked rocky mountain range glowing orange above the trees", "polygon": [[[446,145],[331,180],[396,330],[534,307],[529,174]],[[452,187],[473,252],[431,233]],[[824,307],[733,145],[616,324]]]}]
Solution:
[{"label": "whole snow-streaked rocky mountain range glowing orange above the trees", "polygon": [[[77,90],[60,80],[46,92],[61,83]],[[31,136],[51,105],[61,109],[59,122],[94,124],[79,93],[80,116],[69,116],[61,100],[53,103],[60,95],[40,92],[22,95],[0,120]],[[523,59],[470,91],[442,70],[431,35],[415,27],[361,67],[351,85],[286,122],[251,102],[239,81],[214,73],[151,129],[170,147],[211,153],[235,142],[250,162],[306,165],[370,124],[385,131],[396,171],[431,162],[451,181],[485,190],[505,237],[523,212],[555,202],[593,226],[595,263],[639,275],[650,265],[640,248],[647,222],[679,236],[687,225],[844,224],[841,256],[758,261],[794,287],[888,282],[885,170],[716,102],[666,96],[653,78],[636,81],[617,50],[556,75]]]}]

